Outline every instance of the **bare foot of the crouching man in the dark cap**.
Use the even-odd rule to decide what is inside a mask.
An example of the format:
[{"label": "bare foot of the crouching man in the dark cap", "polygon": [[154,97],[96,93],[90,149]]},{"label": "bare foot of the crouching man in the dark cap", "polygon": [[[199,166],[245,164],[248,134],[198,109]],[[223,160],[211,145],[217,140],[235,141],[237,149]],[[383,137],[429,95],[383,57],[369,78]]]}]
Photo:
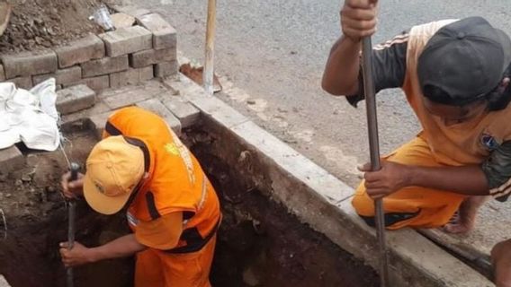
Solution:
[{"label": "bare foot of the crouching man in the dark cap", "polygon": [[484,204],[486,200],[487,196],[471,196],[465,199],[458,212],[454,213],[451,222],[445,224],[444,231],[460,234],[473,230],[480,205]]}]

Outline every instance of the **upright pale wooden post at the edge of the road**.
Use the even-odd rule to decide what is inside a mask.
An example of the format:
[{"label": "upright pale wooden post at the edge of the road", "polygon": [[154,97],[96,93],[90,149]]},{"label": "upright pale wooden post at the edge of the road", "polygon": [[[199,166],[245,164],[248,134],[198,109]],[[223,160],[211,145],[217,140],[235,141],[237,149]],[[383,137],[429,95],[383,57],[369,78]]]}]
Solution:
[{"label": "upright pale wooden post at the edge of the road", "polygon": [[217,0],[208,0],[208,20],[206,30],[206,60],[204,72],[202,74],[202,83],[204,90],[209,95],[213,95],[213,73],[215,57],[215,28],[217,20]]}]

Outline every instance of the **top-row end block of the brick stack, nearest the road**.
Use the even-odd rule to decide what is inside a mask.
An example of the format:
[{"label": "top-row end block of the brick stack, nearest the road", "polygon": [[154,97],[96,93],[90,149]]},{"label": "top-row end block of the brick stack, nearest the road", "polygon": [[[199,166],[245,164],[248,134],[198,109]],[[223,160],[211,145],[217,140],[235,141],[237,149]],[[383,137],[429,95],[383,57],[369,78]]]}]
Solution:
[{"label": "top-row end block of the brick stack, nearest the road", "polygon": [[150,13],[137,17],[137,22],[153,33],[153,48],[175,48],[177,36],[174,27],[158,13]]}]

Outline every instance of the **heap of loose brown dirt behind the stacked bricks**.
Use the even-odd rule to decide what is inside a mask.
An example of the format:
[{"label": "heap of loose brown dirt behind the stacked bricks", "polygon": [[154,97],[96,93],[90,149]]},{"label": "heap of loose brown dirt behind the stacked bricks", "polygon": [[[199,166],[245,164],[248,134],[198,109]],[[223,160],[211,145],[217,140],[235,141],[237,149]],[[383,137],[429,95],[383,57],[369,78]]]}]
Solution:
[{"label": "heap of loose brown dirt behind the stacked bricks", "polygon": [[88,20],[103,0],[11,0],[11,21],[0,36],[0,54],[51,48],[89,32],[101,32]]}]

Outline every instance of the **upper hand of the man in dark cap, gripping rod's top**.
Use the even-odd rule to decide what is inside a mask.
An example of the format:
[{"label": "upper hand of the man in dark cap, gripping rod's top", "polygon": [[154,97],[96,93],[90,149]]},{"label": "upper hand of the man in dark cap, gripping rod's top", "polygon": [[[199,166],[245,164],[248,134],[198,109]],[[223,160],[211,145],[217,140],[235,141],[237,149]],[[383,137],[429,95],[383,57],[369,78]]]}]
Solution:
[{"label": "upper hand of the man in dark cap, gripping rod's top", "polygon": [[341,10],[341,27],[349,39],[360,41],[376,31],[377,0],[345,0]]}]

